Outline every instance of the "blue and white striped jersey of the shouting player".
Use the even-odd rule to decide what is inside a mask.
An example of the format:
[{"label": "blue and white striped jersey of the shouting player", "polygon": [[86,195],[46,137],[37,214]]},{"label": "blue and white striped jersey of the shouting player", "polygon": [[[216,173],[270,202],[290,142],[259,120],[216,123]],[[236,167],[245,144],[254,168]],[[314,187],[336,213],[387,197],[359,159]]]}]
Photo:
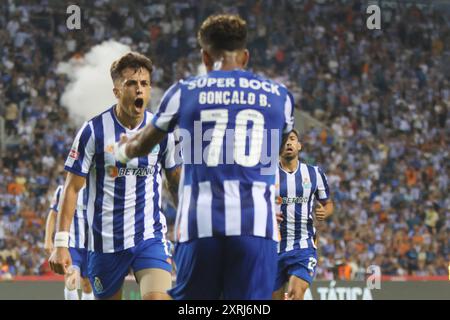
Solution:
[{"label": "blue and white striped jersey of the shouting player", "polygon": [[104,253],[125,250],[149,238],[165,238],[161,169],[180,164],[173,135],[148,156],[127,164],[116,162],[114,144],[120,135],[135,134],[153,115],[146,111],[142,123],[130,130],[117,120],[114,108],[82,126],[65,163],[67,171],[86,177],[88,249]]}]

